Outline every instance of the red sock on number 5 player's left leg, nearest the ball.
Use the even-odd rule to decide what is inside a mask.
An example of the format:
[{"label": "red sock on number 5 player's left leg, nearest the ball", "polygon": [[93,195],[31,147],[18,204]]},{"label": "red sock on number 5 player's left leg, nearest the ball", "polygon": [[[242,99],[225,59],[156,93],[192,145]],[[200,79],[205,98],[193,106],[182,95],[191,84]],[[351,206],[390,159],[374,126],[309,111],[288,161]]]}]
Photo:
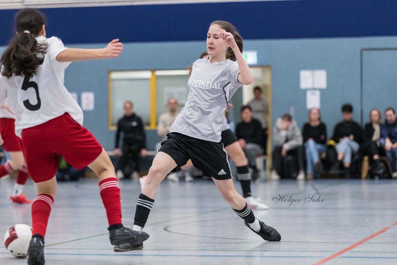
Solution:
[{"label": "red sock on number 5 player's left leg, nearest the ball", "polygon": [[33,234],[46,235],[48,217],[50,217],[54,199],[51,195],[41,193],[36,196],[32,204],[32,226]]}]

